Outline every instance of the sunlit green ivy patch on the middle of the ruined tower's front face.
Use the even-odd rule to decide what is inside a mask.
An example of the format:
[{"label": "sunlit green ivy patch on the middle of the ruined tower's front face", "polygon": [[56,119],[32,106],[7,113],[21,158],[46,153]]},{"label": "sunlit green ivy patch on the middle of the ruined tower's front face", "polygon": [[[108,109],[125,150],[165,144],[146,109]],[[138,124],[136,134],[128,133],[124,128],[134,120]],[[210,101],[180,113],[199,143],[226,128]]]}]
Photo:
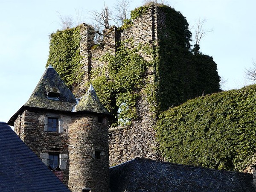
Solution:
[{"label": "sunlit green ivy patch on the middle of the ruined tower's front face", "polygon": [[137,118],[135,105],[144,86],[143,75],[148,64],[136,52],[137,49],[121,45],[115,55],[103,55],[101,60],[108,64],[91,74],[102,104],[112,114],[118,114],[118,125],[129,125],[131,120]]}]

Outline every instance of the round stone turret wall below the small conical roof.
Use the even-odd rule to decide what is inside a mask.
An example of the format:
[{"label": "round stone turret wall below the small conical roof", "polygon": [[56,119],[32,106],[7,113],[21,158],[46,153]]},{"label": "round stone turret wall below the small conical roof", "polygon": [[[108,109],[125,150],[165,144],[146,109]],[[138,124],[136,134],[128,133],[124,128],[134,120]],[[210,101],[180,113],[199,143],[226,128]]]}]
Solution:
[{"label": "round stone turret wall below the small conical roof", "polygon": [[[68,134],[70,137],[70,180],[72,192],[91,189],[109,191],[108,120],[98,123],[97,116],[73,116]],[[100,151],[100,158],[96,152]]]}]

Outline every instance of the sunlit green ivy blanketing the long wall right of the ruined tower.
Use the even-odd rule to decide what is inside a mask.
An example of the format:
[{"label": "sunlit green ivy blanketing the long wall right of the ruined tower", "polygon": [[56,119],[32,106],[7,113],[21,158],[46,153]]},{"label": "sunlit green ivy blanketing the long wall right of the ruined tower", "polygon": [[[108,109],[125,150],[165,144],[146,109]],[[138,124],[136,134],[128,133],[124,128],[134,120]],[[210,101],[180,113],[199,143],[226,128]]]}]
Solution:
[{"label": "sunlit green ivy blanketing the long wall right of the ruined tower", "polygon": [[157,122],[165,160],[241,171],[256,152],[256,85],[170,108]]}]

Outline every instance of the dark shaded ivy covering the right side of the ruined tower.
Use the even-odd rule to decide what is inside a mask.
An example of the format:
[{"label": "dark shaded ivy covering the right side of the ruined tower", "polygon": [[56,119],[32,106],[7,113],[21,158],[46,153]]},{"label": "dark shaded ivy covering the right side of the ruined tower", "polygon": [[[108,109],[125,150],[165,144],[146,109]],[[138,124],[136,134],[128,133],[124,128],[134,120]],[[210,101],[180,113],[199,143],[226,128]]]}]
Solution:
[{"label": "dark shaded ivy covering the right side of the ruined tower", "polygon": [[[191,32],[186,17],[169,6],[159,6],[165,25],[159,24],[157,100],[160,111],[177,106],[203,93],[219,91],[220,77],[212,57],[191,50]],[[208,79],[209,78],[209,79]]]}]

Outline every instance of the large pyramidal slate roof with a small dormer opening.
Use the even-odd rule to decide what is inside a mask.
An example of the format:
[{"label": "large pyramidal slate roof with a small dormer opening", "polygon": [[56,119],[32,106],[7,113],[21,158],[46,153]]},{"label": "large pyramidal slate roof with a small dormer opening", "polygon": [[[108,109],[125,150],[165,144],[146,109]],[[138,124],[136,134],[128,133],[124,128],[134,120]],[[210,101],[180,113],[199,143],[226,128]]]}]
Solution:
[{"label": "large pyramidal slate roof with a small dormer opening", "polygon": [[24,106],[59,111],[72,111],[76,98],[51,65]]}]

